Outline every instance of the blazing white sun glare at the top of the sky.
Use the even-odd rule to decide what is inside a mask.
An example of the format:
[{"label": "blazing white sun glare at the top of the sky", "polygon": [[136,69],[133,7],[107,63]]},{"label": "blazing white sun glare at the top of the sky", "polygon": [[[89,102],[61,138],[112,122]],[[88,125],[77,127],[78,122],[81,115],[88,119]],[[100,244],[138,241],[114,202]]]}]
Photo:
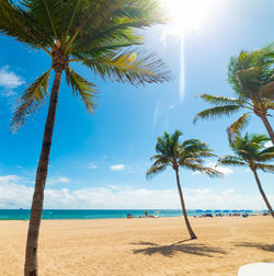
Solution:
[{"label": "blazing white sun glare at the top of the sky", "polygon": [[212,0],[162,0],[174,33],[186,28],[198,31],[205,19],[209,18]]}]

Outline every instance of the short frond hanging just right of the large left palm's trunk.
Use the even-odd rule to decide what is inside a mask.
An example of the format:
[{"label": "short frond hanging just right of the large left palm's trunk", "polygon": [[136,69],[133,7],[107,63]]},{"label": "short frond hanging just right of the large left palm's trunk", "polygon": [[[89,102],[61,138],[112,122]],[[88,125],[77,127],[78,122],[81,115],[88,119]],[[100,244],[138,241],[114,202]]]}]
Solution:
[{"label": "short frond hanging just right of the large left palm's trunk", "polygon": [[70,67],[66,69],[66,78],[69,87],[72,88],[75,95],[80,95],[89,113],[93,113],[95,103],[94,97],[96,94],[95,85],[80,74],[75,72]]}]

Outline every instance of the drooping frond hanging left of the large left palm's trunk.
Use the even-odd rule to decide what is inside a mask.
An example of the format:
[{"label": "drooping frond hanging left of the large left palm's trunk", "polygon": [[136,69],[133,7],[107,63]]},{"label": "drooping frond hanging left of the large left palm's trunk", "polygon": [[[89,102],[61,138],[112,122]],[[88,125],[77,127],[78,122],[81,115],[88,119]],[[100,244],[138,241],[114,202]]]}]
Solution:
[{"label": "drooping frond hanging left of the large left palm's trunk", "polygon": [[18,107],[13,113],[11,129],[16,131],[24,125],[28,115],[36,113],[48,96],[48,80],[52,68],[38,77],[19,97]]}]

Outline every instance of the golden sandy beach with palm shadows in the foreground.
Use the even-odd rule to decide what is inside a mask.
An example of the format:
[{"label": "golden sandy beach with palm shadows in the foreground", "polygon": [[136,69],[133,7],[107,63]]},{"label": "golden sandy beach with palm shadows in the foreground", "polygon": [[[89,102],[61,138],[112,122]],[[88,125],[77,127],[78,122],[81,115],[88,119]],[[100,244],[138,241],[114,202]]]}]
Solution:
[{"label": "golden sandy beach with palm shadows in the foreground", "polygon": [[[44,220],[39,275],[237,275],[274,262],[271,217]],[[23,275],[27,221],[0,221],[0,275]]]}]

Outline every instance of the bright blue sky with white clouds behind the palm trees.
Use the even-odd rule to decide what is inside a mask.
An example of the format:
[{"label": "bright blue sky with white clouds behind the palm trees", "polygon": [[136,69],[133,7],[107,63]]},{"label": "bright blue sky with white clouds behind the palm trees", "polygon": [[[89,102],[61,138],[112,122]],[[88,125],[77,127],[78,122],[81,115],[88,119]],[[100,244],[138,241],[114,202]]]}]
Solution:
[{"label": "bright blue sky with white clouds behind the palm trees", "polygon": [[[195,95],[233,95],[227,83],[229,58],[241,49],[253,50],[273,42],[274,2],[213,0],[210,3],[199,30],[185,28],[183,54],[180,38],[168,26],[144,32],[147,38],[144,47],[168,64],[174,81],[135,88],[104,82],[76,66],[78,72],[99,87],[94,115],[85,112],[80,99],[62,81],[46,208],[178,208],[171,169],[152,181],[145,177],[156,139],[164,130],[180,129],[184,139],[206,141],[218,156],[231,153],[226,128],[237,116],[194,125],[195,114],[207,107]],[[16,97],[27,83],[49,68],[50,60],[11,38],[1,36],[0,45],[0,208],[27,208],[48,105],[15,135],[9,131],[9,124]],[[182,59],[183,99],[180,97]],[[270,122],[273,125],[273,118]],[[266,134],[254,116],[247,130]],[[219,180],[181,172],[189,208],[265,208],[251,173],[246,169],[221,170],[226,176]],[[274,205],[273,175],[260,173],[260,176]]]}]

